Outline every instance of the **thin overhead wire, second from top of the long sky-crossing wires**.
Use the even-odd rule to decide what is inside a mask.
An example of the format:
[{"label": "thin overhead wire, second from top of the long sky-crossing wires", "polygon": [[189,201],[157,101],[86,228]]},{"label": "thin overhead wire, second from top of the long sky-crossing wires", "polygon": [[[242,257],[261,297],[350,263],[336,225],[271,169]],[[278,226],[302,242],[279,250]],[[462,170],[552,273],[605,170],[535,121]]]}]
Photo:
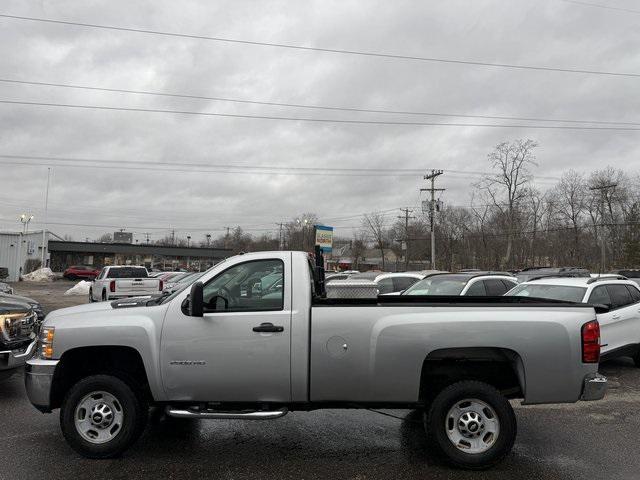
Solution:
[{"label": "thin overhead wire, second from top of the long sky-crossing wires", "polygon": [[357,113],[380,113],[380,114],[393,114],[393,115],[416,115],[426,117],[454,117],[454,118],[482,118],[487,120],[517,120],[525,122],[557,122],[557,123],[577,123],[577,124],[598,124],[598,125],[636,125],[640,126],[640,122],[615,122],[615,121],[603,121],[603,120],[575,120],[566,118],[540,118],[540,117],[516,117],[516,116],[504,116],[504,115],[471,115],[461,113],[444,113],[444,112],[422,112],[413,110],[389,110],[389,109],[372,109],[372,108],[356,108],[356,107],[339,107],[328,105],[309,105],[302,103],[281,103],[281,102],[269,102],[264,100],[247,100],[239,98],[228,97],[210,97],[204,95],[193,95],[186,93],[169,93],[169,92],[157,92],[149,90],[129,90],[123,88],[106,88],[96,87],[90,85],[77,85],[69,83],[51,83],[51,82],[34,82],[27,80],[17,80],[10,78],[0,78],[0,82],[12,83],[19,85],[34,85],[34,86],[46,86],[46,87],[59,87],[59,88],[71,88],[79,90],[90,90],[100,92],[112,92],[112,93],[128,93],[135,95],[150,95],[158,97],[170,97],[170,98],[188,98],[194,100],[209,100],[216,102],[230,102],[230,103],[242,103],[251,105],[263,105],[273,107],[287,107],[287,108],[307,108],[313,110],[331,110],[340,112],[357,112]]}]

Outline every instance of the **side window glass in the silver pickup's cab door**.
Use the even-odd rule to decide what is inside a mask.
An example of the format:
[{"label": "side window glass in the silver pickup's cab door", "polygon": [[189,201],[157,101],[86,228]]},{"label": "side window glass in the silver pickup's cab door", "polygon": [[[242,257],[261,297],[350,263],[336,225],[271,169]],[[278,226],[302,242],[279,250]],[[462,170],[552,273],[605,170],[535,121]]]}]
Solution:
[{"label": "side window glass in the silver pickup's cab door", "polygon": [[205,312],[282,310],[283,274],[282,260],[254,260],[229,267],[204,286]]}]

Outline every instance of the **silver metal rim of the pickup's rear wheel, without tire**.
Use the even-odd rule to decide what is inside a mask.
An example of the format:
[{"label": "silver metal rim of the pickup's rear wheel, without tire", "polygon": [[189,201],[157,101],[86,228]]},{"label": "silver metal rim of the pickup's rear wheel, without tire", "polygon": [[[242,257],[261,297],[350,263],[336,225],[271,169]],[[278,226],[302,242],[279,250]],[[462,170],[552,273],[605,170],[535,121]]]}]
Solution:
[{"label": "silver metal rim of the pickup's rear wheel, without tire", "polygon": [[500,421],[488,404],[477,398],[465,399],[451,407],[445,419],[449,441],[465,453],[484,453],[498,440]]}]

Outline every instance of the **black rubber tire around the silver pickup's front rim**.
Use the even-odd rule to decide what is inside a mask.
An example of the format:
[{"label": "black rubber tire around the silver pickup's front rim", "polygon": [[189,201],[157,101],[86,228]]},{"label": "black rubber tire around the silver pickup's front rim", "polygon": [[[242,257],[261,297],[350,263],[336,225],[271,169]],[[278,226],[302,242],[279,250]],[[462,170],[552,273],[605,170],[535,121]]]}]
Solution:
[{"label": "black rubber tire around the silver pickup's front rim", "polygon": [[[122,412],[122,422],[113,438],[105,443],[93,443],[76,428],[76,408],[92,392],[112,395]],[[128,383],[112,375],[92,375],[69,389],[60,407],[60,427],[69,445],[87,458],[113,458],[129,448],[142,434],[147,423],[148,408],[142,394]]]}]

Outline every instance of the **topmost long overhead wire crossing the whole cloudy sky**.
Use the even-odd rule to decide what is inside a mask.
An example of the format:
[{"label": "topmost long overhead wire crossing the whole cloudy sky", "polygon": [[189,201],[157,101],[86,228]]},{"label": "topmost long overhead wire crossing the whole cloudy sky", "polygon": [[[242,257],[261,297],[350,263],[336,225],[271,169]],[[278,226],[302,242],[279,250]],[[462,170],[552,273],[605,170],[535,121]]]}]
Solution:
[{"label": "topmost long overhead wire crossing the whole cloudy sky", "polygon": [[519,65],[519,64],[494,63],[494,62],[484,62],[484,61],[475,61],[475,60],[458,60],[458,59],[439,58],[439,57],[400,55],[400,54],[383,53],[383,52],[368,52],[368,51],[362,51],[362,50],[309,47],[305,45],[294,45],[294,44],[288,44],[288,43],[260,42],[260,41],[253,41],[253,40],[241,40],[236,38],[211,37],[206,35],[164,32],[160,30],[118,27],[113,25],[72,22],[67,20],[54,20],[50,18],[26,17],[26,16],[9,15],[9,14],[0,14],[0,17],[13,19],[13,20],[25,20],[30,22],[42,22],[42,23],[50,23],[50,24],[57,24],[57,25],[70,25],[70,26],[76,26],[76,27],[97,28],[102,30],[144,33],[148,35],[162,35],[167,37],[180,37],[180,38],[189,38],[194,40],[209,40],[209,41],[215,41],[215,42],[225,42],[225,43],[233,43],[233,44],[241,44],[241,45],[277,47],[277,48],[286,48],[286,49],[300,50],[300,51],[357,55],[357,56],[363,56],[363,57],[376,57],[376,58],[387,58],[387,59],[396,59],[396,60],[411,60],[411,61],[419,61],[419,62],[448,63],[448,64],[457,64],[457,65],[471,65],[471,66],[495,67],[495,68],[509,68],[509,69],[517,69],[517,70],[538,70],[538,71],[546,71],[546,72],[580,73],[580,74],[589,74],[589,75],[607,75],[607,76],[633,77],[633,78],[640,77],[640,73],[611,72],[611,71],[605,71],[605,70],[587,70],[587,69],[579,69],[579,68],[546,67],[546,66],[536,66],[536,65]]}]

